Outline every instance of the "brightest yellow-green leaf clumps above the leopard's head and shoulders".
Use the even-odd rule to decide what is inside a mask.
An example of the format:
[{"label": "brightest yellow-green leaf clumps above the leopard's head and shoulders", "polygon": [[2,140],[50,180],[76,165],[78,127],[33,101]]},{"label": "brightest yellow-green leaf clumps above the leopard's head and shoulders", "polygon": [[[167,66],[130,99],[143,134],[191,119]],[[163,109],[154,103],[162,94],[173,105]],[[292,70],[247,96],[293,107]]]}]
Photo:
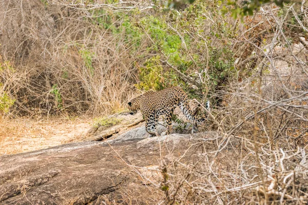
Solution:
[{"label": "brightest yellow-green leaf clumps above the leopard's head and shoulders", "polygon": [[[172,12],[172,11],[171,11]],[[175,15],[177,15],[175,13]],[[183,54],[182,40],[177,33],[168,28],[163,17],[146,16],[140,24],[153,40],[153,45],[148,47],[148,52],[155,51],[168,56],[168,62],[177,67],[181,72],[188,73],[192,60]],[[184,36],[184,41],[189,46],[189,37]],[[169,86],[177,86],[180,81],[172,69],[163,70],[159,55],[151,57],[140,67],[140,83],[138,89],[161,90]]]}]

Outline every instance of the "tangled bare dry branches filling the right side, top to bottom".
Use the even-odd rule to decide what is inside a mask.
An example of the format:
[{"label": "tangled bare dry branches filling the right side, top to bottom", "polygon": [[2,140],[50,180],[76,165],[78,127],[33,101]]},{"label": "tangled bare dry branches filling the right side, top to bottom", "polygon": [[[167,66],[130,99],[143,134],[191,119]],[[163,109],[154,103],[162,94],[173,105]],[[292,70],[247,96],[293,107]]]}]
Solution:
[{"label": "tangled bare dry branches filling the right side, top to bottom", "polygon": [[308,202],[307,10],[263,10],[234,38],[235,77],[211,96],[222,102],[203,130],[217,136],[198,142],[194,162],[162,162],[161,204]]}]

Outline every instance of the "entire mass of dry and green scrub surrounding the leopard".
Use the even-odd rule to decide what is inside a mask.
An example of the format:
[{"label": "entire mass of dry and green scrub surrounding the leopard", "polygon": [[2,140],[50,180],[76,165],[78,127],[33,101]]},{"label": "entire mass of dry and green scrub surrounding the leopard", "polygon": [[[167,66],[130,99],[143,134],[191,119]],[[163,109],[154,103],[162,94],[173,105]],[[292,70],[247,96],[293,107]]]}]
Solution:
[{"label": "entire mass of dry and green scrub surrounding the leopard", "polygon": [[15,100],[6,116],[103,115],[123,109],[134,87],[180,85],[201,103],[211,100],[203,130],[218,135],[198,143],[216,150],[194,165],[162,162],[158,200],[306,204],[305,1],[242,20],[222,15],[217,2],[197,2],[165,13],[147,5],[0,2],[0,54],[14,69],[0,70],[2,92]]}]

